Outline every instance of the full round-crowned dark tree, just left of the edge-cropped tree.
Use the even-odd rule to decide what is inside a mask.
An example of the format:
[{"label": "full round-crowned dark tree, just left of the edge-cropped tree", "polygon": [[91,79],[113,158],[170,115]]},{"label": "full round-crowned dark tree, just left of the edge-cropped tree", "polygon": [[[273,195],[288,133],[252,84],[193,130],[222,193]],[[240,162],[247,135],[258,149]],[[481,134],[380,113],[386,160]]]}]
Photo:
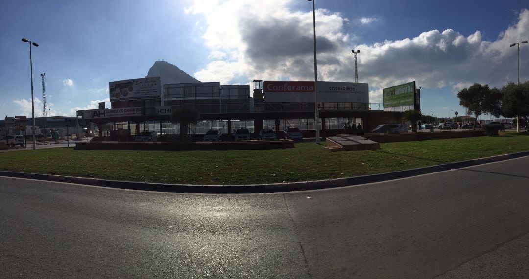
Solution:
[{"label": "full round-crowned dark tree, just left of the edge-cropped tree", "polygon": [[[467,109],[467,114],[474,114],[475,120],[481,113],[489,112],[496,114],[500,112],[501,92],[494,88],[474,83],[468,89],[463,89],[458,93],[459,104]],[[476,122],[474,122],[476,123]],[[474,125],[476,129],[476,125]]]}]

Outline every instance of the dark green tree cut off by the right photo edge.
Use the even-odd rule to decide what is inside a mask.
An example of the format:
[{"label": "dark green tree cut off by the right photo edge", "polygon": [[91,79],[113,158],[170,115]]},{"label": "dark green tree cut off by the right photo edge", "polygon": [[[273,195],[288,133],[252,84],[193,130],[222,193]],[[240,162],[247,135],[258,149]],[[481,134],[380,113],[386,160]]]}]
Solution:
[{"label": "dark green tree cut off by the right photo edge", "polygon": [[503,94],[501,114],[505,117],[519,116],[527,123],[529,117],[529,81],[521,84],[509,82],[501,88],[501,93]]}]

